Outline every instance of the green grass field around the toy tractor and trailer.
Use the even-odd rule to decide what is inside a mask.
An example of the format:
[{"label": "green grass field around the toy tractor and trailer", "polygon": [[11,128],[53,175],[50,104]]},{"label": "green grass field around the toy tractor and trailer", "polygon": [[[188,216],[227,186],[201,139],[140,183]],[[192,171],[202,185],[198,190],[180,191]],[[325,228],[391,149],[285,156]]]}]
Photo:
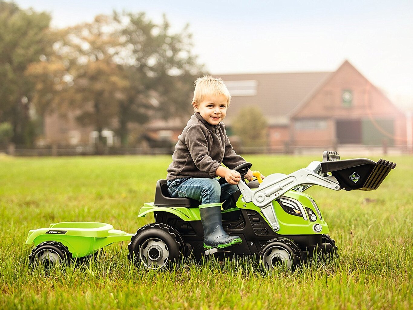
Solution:
[{"label": "green grass field around the toy tractor and trailer", "polygon": [[[264,175],[290,173],[320,157],[245,156]],[[377,191],[307,191],[339,258],[264,274],[249,259],[148,271],[128,262],[126,242],[108,246],[87,268],[33,270],[24,244],[29,229],[90,221],[134,232],[152,222],[136,215],[153,201],[171,159],[0,156],[0,308],[411,309],[413,157],[388,157],[397,167]]]}]

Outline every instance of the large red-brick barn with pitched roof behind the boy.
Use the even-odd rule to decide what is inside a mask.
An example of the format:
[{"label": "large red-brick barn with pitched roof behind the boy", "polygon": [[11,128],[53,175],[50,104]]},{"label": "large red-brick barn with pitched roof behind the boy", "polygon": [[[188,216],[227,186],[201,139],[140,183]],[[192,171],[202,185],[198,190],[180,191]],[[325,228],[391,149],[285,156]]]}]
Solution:
[{"label": "large red-brick barn with pitched roof behind the boy", "polygon": [[[216,75],[218,76],[218,75]],[[233,96],[230,126],[244,107],[268,119],[268,145],[406,145],[406,117],[347,60],[335,72],[222,74]]]}]

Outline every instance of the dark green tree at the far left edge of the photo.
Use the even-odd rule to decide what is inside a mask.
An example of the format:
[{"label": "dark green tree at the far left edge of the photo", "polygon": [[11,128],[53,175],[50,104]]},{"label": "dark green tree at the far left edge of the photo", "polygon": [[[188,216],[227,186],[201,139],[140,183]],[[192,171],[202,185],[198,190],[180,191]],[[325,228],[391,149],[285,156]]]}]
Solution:
[{"label": "dark green tree at the far left edge of the photo", "polygon": [[12,142],[33,142],[31,98],[34,85],[26,69],[51,51],[50,15],[20,10],[0,1],[0,122],[12,124]]}]

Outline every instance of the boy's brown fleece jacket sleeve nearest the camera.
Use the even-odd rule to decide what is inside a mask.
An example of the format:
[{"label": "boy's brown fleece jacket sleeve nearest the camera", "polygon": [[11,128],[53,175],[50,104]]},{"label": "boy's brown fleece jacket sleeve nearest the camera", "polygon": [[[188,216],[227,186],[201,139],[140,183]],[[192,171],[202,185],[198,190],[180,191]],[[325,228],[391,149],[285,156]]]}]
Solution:
[{"label": "boy's brown fleece jacket sleeve nearest the camera", "polygon": [[215,178],[216,169],[221,166],[221,163],[212,160],[209,156],[206,134],[201,126],[193,125],[185,134],[185,144],[188,147],[195,166],[197,166],[200,171],[207,172],[211,178]]}]

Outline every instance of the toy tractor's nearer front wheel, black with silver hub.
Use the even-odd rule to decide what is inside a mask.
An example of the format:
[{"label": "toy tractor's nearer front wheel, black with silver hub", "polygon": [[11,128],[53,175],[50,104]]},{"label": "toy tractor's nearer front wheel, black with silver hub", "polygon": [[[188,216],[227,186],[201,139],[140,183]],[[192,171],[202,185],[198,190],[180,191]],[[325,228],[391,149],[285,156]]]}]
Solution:
[{"label": "toy tractor's nearer front wheel, black with silver hub", "polygon": [[266,271],[286,268],[294,271],[301,265],[303,254],[294,241],[287,238],[274,238],[268,241],[260,253],[260,262]]}]

